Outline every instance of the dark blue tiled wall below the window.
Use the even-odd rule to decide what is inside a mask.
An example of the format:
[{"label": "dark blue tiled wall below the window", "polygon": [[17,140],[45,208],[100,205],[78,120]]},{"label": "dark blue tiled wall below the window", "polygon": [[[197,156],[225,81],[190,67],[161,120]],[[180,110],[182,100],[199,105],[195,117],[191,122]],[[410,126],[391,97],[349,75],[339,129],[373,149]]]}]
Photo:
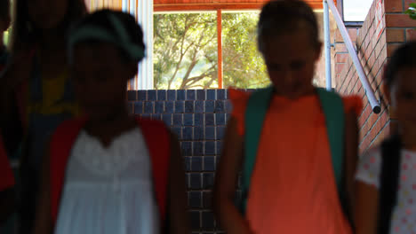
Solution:
[{"label": "dark blue tiled wall below the window", "polygon": [[193,233],[220,233],[212,214],[212,183],[231,111],[227,90],[128,92],[132,113],[163,120],[180,139]]}]

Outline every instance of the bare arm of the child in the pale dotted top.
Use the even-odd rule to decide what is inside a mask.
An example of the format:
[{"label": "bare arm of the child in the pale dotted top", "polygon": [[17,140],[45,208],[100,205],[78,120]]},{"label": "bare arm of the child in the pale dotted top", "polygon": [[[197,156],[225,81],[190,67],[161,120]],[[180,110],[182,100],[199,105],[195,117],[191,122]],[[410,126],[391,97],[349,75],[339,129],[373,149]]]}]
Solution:
[{"label": "bare arm of the child in the pale dotted top", "polygon": [[375,186],[356,182],[356,234],[376,234],[378,193]]}]

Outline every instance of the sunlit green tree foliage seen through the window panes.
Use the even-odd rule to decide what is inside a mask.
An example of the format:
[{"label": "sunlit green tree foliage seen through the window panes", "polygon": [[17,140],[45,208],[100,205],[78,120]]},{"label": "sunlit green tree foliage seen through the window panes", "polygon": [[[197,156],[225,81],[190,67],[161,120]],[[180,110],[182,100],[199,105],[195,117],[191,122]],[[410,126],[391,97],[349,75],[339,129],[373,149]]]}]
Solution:
[{"label": "sunlit green tree foliage seen through the window panes", "polygon": [[[224,86],[266,86],[266,67],[256,44],[258,13],[223,13],[222,18]],[[217,88],[217,50],[215,13],[156,14],[156,89]]]}]

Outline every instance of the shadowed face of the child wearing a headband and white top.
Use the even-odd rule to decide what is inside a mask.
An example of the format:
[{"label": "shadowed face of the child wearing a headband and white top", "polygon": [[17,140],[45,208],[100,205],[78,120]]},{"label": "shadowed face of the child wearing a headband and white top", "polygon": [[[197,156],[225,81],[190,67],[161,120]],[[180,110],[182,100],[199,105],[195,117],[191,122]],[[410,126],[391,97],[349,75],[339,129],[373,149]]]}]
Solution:
[{"label": "shadowed face of the child wearing a headband and white top", "polygon": [[94,121],[125,111],[127,81],[137,72],[110,43],[80,43],[74,50],[72,76],[80,105]]}]

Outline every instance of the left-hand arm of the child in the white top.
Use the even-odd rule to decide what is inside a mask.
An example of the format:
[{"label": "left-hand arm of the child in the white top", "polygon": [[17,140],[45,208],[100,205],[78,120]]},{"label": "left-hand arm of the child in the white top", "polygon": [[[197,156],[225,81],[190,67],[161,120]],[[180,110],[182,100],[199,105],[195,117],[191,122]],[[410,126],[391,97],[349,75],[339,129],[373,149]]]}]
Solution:
[{"label": "left-hand arm of the child in the white top", "polygon": [[34,234],[52,234],[53,230],[49,165],[49,153],[46,153],[40,175],[39,193],[37,195],[35,230],[33,231]]}]

